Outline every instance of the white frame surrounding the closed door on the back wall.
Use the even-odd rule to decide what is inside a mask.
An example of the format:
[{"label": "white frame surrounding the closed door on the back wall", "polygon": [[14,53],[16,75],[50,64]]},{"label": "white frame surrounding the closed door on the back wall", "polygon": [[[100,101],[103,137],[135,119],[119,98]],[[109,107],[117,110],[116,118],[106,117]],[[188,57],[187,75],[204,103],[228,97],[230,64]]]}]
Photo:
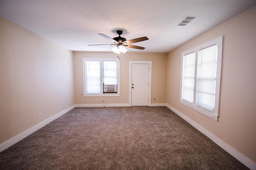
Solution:
[{"label": "white frame surrounding the closed door on the back wall", "polygon": [[129,61],[129,106],[132,106],[132,64],[148,64],[148,106],[151,105],[152,61]]}]

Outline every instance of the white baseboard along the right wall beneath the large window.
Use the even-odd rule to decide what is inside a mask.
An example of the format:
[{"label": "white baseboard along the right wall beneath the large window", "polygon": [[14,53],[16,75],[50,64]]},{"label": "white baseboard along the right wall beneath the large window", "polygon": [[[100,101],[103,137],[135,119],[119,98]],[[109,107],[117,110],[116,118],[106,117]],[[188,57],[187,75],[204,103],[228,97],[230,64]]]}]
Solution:
[{"label": "white baseboard along the right wall beneath the large window", "polygon": [[242,162],[245,166],[247,166],[251,170],[256,170],[256,164],[254,162],[252,162],[251,160],[246,158],[244,155],[242,155],[239,152],[237,152],[234,148],[228,146],[228,144],[226,144],[225,142],[223,142],[222,140],[220,140],[219,138],[217,138],[216,136],[211,134],[209,131],[207,131],[206,129],[204,129],[203,127],[201,127],[200,125],[198,125],[197,123],[195,123],[194,121],[192,121],[191,119],[189,119],[188,117],[186,117],[185,115],[183,115],[182,113],[180,113],[179,111],[177,111],[176,109],[171,107],[170,105],[166,104],[166,107],[168,107],[174,113],[179,115],[182,119],[187,121],[190,125],[195,127],[197,130],[202,132],[204,135],[206,135],[208,138],[210,138],[213,142],[218,144],[218,146],[220,146],[221,148],[226,150],[226,152],[228,152],[229,154],[234,156],[234,158],[236,158],[237,160]]}]

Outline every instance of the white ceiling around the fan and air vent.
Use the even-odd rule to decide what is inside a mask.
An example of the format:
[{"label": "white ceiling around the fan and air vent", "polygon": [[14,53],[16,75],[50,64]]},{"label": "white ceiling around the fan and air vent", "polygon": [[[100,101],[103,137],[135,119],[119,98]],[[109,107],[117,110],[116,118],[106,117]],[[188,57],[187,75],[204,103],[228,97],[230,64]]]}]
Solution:
[{"label": "white ceiling around the fan and air vent", "polygon": [[[123,30],[144,50],[169,52],[203,32],[256,5],[256,0],[0,0],[0,16],[72,51],[111,51],[108,44]],[[196,16],[178,26],[186,16]]]}]

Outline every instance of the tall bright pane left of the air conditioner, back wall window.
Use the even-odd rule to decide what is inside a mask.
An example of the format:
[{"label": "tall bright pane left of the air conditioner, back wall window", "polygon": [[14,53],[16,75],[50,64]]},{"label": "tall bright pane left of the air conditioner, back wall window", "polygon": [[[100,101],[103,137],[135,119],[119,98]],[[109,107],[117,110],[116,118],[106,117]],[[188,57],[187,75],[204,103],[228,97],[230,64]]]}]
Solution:
[{"label": "tall bright pane left of the air conditioner, back wall window", "polygon": [[100,93],[100,61],[86,61],[86,93]]}]

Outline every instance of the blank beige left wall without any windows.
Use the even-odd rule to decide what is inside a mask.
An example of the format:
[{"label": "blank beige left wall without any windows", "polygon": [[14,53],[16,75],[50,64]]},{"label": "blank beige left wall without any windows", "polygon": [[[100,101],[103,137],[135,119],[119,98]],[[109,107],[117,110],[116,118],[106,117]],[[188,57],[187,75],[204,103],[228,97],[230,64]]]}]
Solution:
[{"label": "blank beige left wall without any windows", "polygon": [[72,51],[0,17],[0,144],[74,105],[73,75]]}]

